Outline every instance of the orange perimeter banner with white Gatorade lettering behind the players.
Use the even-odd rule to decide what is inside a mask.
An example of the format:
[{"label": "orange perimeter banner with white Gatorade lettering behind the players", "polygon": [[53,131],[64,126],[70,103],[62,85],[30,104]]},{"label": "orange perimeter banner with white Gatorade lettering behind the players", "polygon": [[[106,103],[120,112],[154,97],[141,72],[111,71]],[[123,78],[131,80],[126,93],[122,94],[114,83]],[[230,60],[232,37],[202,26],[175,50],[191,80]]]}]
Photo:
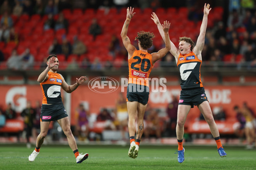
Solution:
[{"label": "orange perimeter banner with white Gatorade lettering behind the players", "polygon": [[[126,88],[118,89],[111,93],[96,93],[88,85],[81,85],[76,91],[71,93],[71,122],[74,125],[76,108],[80,103],[87,103],[90,113],[99,113],[101,108],[115,108],[116,100],[119,93],[126,97]],[[172,102],[172,96],[179,97],[180,86],[167,86],[166,91],[160,92],[157,89],[151,89],[149,94],[149,105],[152,108],[166,108],[169,102]],[[255,94],[256,86],[207,86],[205,87],[209,103],[212,108],[222,106],[228,117],[235,117],[233,111],[234,105],[241,106],[247,102],[250,108],[256,111]],[[0,85],[1,98],[0,107],[5,110],[6,105],[11,102],[17,112],[21,112],[26,107],[26,101],[42,102],[42,92],[40,85]],[[64,96],[64,91],[61,92]],[[64,98],[63,98],[64,99]],[[65,100],[65,99],[64,99]],[[197,107],[191,109],[187,120],[195,120],[200,115]],[[188,121],[187,121],[188,122]]]}]

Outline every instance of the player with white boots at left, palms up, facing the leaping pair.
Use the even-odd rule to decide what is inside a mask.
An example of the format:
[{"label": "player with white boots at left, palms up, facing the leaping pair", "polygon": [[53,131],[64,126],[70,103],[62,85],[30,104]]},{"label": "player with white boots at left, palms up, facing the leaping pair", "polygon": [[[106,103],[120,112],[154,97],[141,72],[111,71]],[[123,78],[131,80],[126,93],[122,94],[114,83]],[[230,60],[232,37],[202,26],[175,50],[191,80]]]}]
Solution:
[{"label": "player with white boots at left, palms up, facing the leaping pair", "polygon": [[38,77],[38,82],[40,82],[43,93],[40,119],[41,132],[37,137],[35,150],[29,156],[29,161],[35,161],[36,156],[38,156],[40,147],[47,135],[50,122],[57,121],[67,136],[67,142],[75,154],[76,163],[81,163],[88,158],[88,153],[80,154],[78,151],[76,140],[70,130],[70,120],[62,102],[61,88],[67,93],[71,93],[79,85],[83,84],[87,78],[84,76],[79,79],[76,78],[75,84],[68,85],[63,76],[57,73],[59,61],[56,55],[49,55],[47,65],[47,68]]}]

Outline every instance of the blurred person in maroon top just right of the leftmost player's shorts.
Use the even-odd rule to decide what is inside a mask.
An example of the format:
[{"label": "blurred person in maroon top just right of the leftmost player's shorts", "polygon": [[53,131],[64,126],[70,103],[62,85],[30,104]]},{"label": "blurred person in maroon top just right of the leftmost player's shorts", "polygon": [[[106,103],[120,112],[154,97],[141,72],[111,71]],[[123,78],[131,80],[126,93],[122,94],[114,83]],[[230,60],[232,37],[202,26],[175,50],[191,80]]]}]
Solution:
[{"label": "blurred person in maroon top just right of the leftmost player's shorts", "polygon": [[83,104],[79,105],[78,112],[78,137],[80,141],[87,140],[89,137],[89,116],[90,112],[84,108]]}]

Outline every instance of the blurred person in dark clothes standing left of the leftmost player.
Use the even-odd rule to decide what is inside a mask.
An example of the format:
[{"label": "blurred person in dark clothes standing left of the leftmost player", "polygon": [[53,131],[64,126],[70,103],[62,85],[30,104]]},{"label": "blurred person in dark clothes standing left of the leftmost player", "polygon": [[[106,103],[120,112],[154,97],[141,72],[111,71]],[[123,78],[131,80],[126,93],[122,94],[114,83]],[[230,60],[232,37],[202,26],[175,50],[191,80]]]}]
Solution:
[{"label": "blurred person in dark clothes standing left of the leftmost player", "polygon": [[24,131],[26,132],[26,143],[27,147],[30,148],[30,139],[32,135],[32,127],[35,119],[35,109],[31,107],[31,102],[27,101],[26,108],[21,112],[21,116],[24,119]]}]

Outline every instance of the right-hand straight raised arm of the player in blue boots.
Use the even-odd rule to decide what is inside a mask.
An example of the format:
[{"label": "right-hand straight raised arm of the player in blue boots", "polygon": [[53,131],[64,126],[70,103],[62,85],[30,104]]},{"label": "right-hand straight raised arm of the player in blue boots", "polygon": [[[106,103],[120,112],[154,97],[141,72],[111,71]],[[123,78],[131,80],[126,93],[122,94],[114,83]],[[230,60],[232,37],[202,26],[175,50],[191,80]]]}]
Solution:
[{"label": "right-hand straight raised arm of the player in blue boots", "polygon": [[207,4],[207,6],[206,6],[206,3],[204,4],[204,17],[203,17],[203,21],[200,28],[200,34],[198,36],[196,45],[192,50],[197,55],[198,59],[202,59],[201,52],[204,48],[204,38],[205,38],[205,33],[207,28],[208,14],[209,14],[209,11],[212,9],[212,8],[209,9],[209,7],[210,7],[209,4]]}]

